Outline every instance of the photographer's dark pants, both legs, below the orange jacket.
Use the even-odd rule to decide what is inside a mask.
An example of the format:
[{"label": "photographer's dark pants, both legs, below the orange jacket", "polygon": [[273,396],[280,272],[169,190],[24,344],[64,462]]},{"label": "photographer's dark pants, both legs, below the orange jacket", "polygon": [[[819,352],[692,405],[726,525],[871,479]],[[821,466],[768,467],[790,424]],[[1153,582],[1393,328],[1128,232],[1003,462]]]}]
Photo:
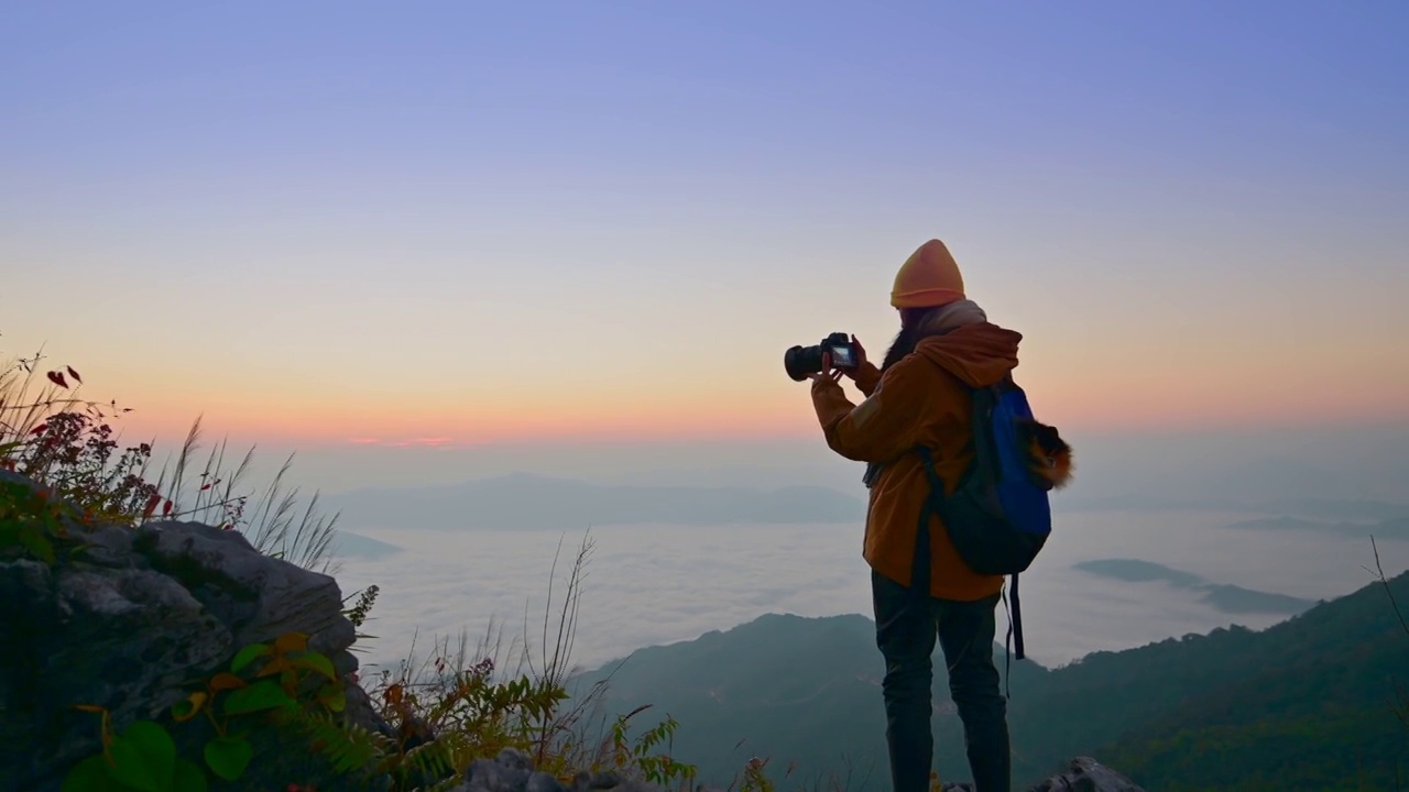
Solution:
[{"label": "photographer's dark pants, both legs, below the orange jacket", "polygon": [[885,657],[886,743],[895,792],[927,792],[934,734],[930,730],[934,638],[948,667],[950,696],[964,722],[975,792],[1009,792],[1007,706],[993,665],[999,595],[978,602],[926,598],[871,574],[876,645]]}]

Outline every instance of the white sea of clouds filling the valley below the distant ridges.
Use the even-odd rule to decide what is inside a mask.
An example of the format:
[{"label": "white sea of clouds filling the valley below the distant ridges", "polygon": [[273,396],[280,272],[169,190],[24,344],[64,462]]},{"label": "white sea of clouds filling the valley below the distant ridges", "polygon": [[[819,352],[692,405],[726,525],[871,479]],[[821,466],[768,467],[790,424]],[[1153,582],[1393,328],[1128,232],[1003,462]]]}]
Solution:
[{"label": "white sea of clouds filling the valley below the distant ridges", "polygon": [[[1058,514],[1057,533],[1022,578],[1029,655],[1058,665],[1098,650],[1229,624],[1264,629],[1286,617],[1222,613],[1200,602],[1198,592],[1095,576],[1072,569],[1079,561],[1138,558],[1213,583],[1313,600],[1374,581],[1365,568],[1374,567],[1368,540],[1226,527],[1247,519],[1247,513],[1192,510]],[[592,551],[572,652],[582,668],[644,645],[727,630],[764,613],[871,614],[859,526],[596,526],[561,534],[356,527],[355,533],[403,548],[380,559],[342,559],[337,574],[344,596],[373,583],[380,589],[364,626],[376,636],[364,641],[364,668],[395,667],[413,640],[418,657],[437,636],[464,631],[473,645],[496,624],[506,647],[527,636],[538,652],[545,609],[554,613],[550,643],[555,637],[568,569],[585,536]],[[1382,541],[1379,552],[1386,574],[1409,568],[1409,543]],[[1005,629],[1000,623],[999,631]]]}]

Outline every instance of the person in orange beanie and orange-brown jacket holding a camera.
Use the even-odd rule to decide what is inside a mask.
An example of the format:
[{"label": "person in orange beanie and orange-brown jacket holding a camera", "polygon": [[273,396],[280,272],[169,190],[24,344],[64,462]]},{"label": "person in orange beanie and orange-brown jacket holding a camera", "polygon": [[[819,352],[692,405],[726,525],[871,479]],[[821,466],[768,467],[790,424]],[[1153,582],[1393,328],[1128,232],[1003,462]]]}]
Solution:
[{"label": "person in orange beanie and orange-brown jacket holding a camera", "polygon": [[[938,240],[923,244],[900,266],[890,292],[900,331],[879,368],[854,344],[845,369],[823,352],[821,371],[807,373],[827,445],[868,462],[871,489],[864,557],[871,567],[876,645],[885,657],[882,691],[886,741],[896,792],[930,786],[930,730],[936,637],[948,667],[950,693],[964,722],[976,792],[1007,792],[1007,714],[993,665],[995,610],[1003,586],[960,558],[938,519],[930,524],[929,596],[910,596],[916,538],[930,481],[914,452],[926,447],[952,492],[972,459],[971,399],[965,386],[989,386],[1017,366],[1022,335],[988,321],[965,299],[964,279]],[[848,376],[867,397],[852,404],[838,379]],[[917,606],[916,602],[920,605]]]}]

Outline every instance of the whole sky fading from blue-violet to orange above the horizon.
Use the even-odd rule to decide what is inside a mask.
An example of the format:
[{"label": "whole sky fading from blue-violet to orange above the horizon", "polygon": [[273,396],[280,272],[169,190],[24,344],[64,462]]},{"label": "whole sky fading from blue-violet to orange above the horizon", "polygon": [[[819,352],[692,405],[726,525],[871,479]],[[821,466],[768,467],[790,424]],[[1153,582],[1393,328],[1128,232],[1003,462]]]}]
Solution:
[{"label": "whole sky fading from blue-violet to orange above the horizon", "polygon": [[0,349],[139,431],[803,438],[945,240],[1075,431],[1409,424],[1409,4],[6,3]]}]

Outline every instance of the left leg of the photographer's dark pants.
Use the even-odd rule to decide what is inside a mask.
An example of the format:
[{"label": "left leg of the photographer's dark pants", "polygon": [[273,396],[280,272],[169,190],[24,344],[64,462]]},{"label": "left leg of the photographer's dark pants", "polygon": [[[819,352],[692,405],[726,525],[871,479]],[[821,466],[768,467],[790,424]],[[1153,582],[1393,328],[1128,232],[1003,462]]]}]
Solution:
[{"label": "left leg of the photographer's dark pants", "polygon": [[876,647],[885,658],[881,691],[885,698],[892,789],[927,792],[934,755],[934,734],[930,730],[934,600],[926,598],[924,607],[914,607],[909,589],[875,572],[871,572],[871,599],[876,619]]}]

